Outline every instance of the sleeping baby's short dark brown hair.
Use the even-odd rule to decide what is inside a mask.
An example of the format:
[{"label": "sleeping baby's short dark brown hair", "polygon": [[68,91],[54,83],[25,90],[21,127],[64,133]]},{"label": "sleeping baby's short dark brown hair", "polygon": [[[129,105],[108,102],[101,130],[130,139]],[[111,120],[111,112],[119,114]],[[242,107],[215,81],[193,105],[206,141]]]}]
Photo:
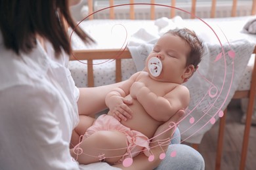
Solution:
[{"label": "sleeping baby's short dark brown hair", "polygon": [[181,37],[191,48],[190,54],[186,59],[186,66],[192,64],[194,68],[198,66],[203,55],[203,42],[198,38],[196,33],[188,28],[177,28],[167,31],[172,35]]}]

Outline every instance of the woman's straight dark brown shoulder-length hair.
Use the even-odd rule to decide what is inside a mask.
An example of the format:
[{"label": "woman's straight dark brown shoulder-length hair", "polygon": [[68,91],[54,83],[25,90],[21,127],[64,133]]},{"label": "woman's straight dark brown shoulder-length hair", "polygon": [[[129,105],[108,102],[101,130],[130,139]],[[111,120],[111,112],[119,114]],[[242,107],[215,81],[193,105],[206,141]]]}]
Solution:
[{"label": "woman's straight dark brown shoulder-length hair", "polygon": [[68,0],[0,0],[3,42],[16,54],[31,52],[39,35],[53,44],[56,56],[61,49],[70,55],[68,25],[83,41],[93,41],[79,27],[75,28]]}]

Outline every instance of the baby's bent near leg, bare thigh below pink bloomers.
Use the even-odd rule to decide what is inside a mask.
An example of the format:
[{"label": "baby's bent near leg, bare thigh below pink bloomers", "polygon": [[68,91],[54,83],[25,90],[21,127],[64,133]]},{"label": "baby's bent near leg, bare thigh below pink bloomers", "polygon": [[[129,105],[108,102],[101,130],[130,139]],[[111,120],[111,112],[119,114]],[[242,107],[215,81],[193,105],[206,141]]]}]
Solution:
[{"label": "baby's bent near leg, bare thigh below pink bloomers", "polygon": [[127,151],[127,137],[119,131],[97,131],[84,139],[79,148],[83,154],[78,157],[74,149],[70,150],[72,157],[82,164],[88,164],[104,160],[108,163],[115,163],[120,160]]}]

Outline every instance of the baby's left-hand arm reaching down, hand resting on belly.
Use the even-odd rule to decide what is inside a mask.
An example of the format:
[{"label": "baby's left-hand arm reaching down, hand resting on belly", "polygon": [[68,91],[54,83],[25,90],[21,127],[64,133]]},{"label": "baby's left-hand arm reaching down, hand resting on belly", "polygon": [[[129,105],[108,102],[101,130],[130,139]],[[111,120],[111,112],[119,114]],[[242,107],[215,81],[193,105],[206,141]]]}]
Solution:
[{"label": "baby's left-hand arm reaching down, hand resting on belly", "polygon": [[129,78],[129,80],[125,81],[125,83],[121,84],[119,88],[115,88],[110,93],[106,95],[105,102],[107,107],[110,109],[108,114],[117,118],[117,120],[127,120],[127,118],[131,118],[132,110],[129,109],[128,105],[132,104],[132,101],[129,99],[125,99],[127,95],[129,95],[129,90],[133,82],[135,82],[139,73],[135,73]]}]

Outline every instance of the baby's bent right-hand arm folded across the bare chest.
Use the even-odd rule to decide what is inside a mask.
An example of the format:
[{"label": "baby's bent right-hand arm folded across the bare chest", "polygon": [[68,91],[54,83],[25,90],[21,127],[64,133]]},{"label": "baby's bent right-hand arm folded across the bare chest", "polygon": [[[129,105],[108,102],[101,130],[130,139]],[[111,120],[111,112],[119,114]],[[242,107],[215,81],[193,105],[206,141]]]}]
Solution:
[{"label": "baby's bent right-hand arm folded across the bare chest", "polygon": [[[146,86],[137,90],[137,100],[152,118],[167,121],[178,110],[188,107],[190,94],[186,86],[179,85],[163,97],[150,92]],[[157,113],[157,114],[156,114]]]}]

